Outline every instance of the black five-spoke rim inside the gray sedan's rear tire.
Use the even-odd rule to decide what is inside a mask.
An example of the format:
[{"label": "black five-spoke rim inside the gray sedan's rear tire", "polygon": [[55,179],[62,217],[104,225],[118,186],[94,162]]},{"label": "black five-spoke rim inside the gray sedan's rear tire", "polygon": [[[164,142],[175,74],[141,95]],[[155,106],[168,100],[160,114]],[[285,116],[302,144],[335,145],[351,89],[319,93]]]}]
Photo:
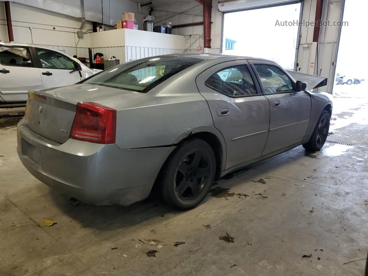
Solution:
[{"label": "black five-spoke rim inside the gray sedan's rear tire", "polygon": [[203,190],[210,169],[204,152],[196,150],[185,156],[175,175],[175,190],[179,198],[191,201]]}]

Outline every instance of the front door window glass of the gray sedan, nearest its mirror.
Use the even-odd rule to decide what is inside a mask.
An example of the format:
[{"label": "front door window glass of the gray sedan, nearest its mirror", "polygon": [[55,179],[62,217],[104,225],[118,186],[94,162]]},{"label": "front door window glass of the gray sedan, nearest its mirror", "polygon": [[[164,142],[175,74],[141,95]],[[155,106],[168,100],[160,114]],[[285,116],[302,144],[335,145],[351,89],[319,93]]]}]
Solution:
[{"label": "front door window glass of the gray sedan, nearest its mirror", "polygon": [[254,64],[254,67],[261,78],[266,94],[294,91],[291,79],[279,67],[269,64]]}]

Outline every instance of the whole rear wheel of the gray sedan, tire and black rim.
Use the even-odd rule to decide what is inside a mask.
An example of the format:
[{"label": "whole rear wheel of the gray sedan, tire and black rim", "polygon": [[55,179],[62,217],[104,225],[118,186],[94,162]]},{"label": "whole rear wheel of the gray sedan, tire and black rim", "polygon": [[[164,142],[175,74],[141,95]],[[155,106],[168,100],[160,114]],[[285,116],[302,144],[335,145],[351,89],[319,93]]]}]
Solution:
[{"label": "whole rear wheel of the gray sedan, tire and black rim", "polygon": [[201,139],[183,142],[171,153],[162,170],[164,201],[180,210],[194,208],[208,194],[215,174],[216,157],[211,146]]}]

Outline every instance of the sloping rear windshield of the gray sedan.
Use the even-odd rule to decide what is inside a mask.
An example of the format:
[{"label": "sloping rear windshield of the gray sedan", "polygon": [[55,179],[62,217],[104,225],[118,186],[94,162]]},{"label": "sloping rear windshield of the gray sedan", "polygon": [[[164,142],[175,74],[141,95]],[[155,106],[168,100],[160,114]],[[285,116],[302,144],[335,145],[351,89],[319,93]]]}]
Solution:
[{"label": "sloping rear windshield of the gray sedan", "polygon": [[202,59],[193,57],[152,57],[140,63],[112,67],[84,83],[146,93],[165,79],[200,61]]}]

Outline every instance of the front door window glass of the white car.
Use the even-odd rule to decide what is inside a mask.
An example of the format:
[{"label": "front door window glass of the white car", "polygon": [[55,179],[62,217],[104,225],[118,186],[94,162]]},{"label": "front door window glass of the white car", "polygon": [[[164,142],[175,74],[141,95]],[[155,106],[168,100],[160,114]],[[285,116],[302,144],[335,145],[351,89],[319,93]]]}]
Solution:
[{"label": "front door window glass of the white car", "polygon": [[37,48],[37,53],[43,68],[67,70],[75,69],[74,62],[63,54],[40,48]]}]

